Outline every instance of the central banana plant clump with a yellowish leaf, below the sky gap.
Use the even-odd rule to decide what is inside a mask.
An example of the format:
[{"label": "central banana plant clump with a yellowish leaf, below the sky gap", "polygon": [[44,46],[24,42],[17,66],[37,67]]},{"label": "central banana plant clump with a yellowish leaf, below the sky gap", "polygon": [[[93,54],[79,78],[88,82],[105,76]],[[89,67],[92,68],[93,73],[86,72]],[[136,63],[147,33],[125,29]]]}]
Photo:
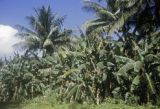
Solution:
[{"label": "central banana plant clump with a yellowish leaf, below the sky gap", "polygon": [[[95,43],[96,42],[96,43]],[[67,101],[94,101],[99,104],[105,96],[111,96],[115,87],[113,52],[111,41],[87,38],[72,49],[62,47],[57,56],[59,93]],[[108,50],[108,51],[107,51]]]}]

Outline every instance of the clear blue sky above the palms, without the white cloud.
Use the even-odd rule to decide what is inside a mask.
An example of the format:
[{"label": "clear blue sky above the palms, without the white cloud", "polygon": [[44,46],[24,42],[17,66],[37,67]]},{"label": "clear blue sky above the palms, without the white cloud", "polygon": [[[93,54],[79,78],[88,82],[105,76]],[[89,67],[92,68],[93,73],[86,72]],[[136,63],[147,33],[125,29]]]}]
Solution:
[{"label": "clear blue sky above the palms, without the white cloud", "polygon": [[67,15],[64,26],[75,28],[91,18],[82,10],[83,0],[0,0],[0,24],[28,26],[26,16],[34,14],[34,8],[50,5],[60,16]]}]

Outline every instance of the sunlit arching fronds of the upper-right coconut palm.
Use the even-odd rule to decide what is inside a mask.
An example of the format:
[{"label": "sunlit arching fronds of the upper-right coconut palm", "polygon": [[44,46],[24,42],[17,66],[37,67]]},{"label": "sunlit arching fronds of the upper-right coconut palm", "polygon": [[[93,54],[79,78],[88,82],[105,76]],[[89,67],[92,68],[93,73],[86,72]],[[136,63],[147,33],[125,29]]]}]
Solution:
[{"label": "sunlit arching fronds of the upper-right coconut palm", "polygon": [[87,31],[99,31],[112,33],[123,27],[129,17],[138,11],[141,0],[119,1],[106,0],[106,6],[100,3],[87,1],[84,9],[93,11],[96,18],[86,23]]}]

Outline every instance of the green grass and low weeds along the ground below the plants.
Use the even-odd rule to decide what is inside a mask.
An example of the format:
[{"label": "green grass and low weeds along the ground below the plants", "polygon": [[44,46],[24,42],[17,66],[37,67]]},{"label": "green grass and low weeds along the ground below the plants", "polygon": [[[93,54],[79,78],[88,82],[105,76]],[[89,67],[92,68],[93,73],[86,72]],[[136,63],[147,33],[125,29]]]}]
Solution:
[{"label": "green grass and low weeds along the ground below the plants", "polygon": [[[116,102],[115,102],[116,101]],[[0,109],[159,109],[152,105],[126,105],[123,101],[108,99],[106,102],[95,104],[78,104],[78,103],[58,103],[55,96],[37,97],[33,100],[27,100],[23,103],[2,103]]]}]

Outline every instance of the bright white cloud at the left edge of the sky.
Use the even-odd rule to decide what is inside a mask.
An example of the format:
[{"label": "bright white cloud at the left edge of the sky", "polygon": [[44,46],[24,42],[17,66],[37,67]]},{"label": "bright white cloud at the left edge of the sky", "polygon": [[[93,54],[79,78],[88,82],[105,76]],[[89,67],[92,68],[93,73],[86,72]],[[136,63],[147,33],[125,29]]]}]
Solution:
[{"label": "bright white cloud at the left edge of the sky", "polygon": [[0,24],[0,57],[9,56],[15,51],[13,45],[19,41],[15,36],[17,32],[11,26]]}]

